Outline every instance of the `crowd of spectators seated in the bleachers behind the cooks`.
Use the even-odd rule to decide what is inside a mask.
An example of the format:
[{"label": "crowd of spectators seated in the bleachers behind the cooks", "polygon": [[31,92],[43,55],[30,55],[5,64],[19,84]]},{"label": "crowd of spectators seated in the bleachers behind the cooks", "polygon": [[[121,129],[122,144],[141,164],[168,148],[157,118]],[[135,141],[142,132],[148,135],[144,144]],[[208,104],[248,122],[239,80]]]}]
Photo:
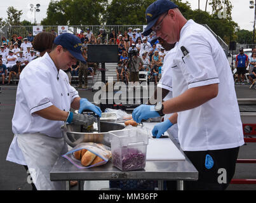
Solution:
[{"label": "crowd of spectators seated in the bleachers behind the cooks", "polygon": [[[45,32],[45,30],[43,30]],[[51,33],[57,36],[55,30],[51,30]],[[118,67],[116,67],[118,81],[128,82],[129,71],[128,61],[131,58],[131,53],[136,51],[138,58],[141,58],[138,70],[147,72],[147,81],[154,81],[156,84],[161,77],[161,67],[163,65],[163,59],[166,51],[158,40],[154,39],[154,33],[149,36],[143,36],[140,29],[129,28],[124,33],[121,31],[106,32],[105,29],[99,29],[97,34],[93,34],[90,29],[81,30],[81,32],[75,34],[81,39],[83,44],[84,57],[86,55],[86,49],[88,44],[116,44],[118,45]],[[8,77],[8,84],[12,77],[19,77],[20,72],[24,69],[25,65],[34,58],[40,56],[39,51],[36,51],[33,44],[34,36],[29,32],[28,36],[24,39],[21,36],[14,34],[11,39],[1,37],[1,51],[0,51],[0,74],[2,78],[2,84],[4,84],[5,78]],[[152,41],[152,42],[151,42]],[[98,64],[91,63],[90,67],[87,67],[88,74],[95,75],[97,72]],[[76,65],[72,65],[67,73],[71,76],[79,75],[79,67],[81,63],[77,62]],[[69,78],[71,78],[69,77]],[[143,77],[143,76],[142,76]],[[71,82],[71,79],[70,81]],[[81,82],[79,82],[81,86]]]}]

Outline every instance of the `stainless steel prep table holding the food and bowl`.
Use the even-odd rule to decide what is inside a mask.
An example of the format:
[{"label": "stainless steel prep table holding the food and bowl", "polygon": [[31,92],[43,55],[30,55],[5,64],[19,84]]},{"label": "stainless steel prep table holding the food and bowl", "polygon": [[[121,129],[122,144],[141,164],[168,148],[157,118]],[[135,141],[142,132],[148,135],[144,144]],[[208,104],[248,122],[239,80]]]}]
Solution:
[{"label": "stainless steel prep table holding the food and bowl", "polygon": [[[180,150],[175,140],[171,140]],[[104,166],[78,169],[69,160],[59,157],[51,169],[50,180],[66,181],[67,190],[71,180],[79,181],[79,190],[83,190],[85,180],[158,180],[159,190],[163,190],[164,180],[176,180],[177,190],[184,190],[184,181],[198,180],[198,171],[186,156],[185,160],[147,160],[145,168],[138,171],[120,171],[112,165],[112,160]]]}]

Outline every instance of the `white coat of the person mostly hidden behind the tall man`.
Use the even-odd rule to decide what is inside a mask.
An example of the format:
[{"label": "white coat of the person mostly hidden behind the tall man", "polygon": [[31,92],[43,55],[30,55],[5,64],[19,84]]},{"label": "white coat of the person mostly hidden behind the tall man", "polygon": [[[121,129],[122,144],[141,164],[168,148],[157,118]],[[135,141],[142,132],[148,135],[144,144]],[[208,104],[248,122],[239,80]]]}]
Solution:
[{"label": "white coat of the person mostly hidden behind the tall man", "polygon": [[[172,96],[172,65],[173,65],[173,59],[177,50],[176,49],[177,44],[175,44],[175,47],[170,51],[166,51],[166,56],[164,58],[163,67],[162,67],[161,79],[158,82],[159,88],[169,90],[169,93],[165,96],[165,98],[163,98],[163,101],[167,101],[173,98]],[[172,114],[166,114],[164,117],[164,120],[166,121],[167,119],[169,119],[171,115]],[[171,128],[169,128],[167,130],[167,133],[179,143],[177,124],[174,124]]]}]

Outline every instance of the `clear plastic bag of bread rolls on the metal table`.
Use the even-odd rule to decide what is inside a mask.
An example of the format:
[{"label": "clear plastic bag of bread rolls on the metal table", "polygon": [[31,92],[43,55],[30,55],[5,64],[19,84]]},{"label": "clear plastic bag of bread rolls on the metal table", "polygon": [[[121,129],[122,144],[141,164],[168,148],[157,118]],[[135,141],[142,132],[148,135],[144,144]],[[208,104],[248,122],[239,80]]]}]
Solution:
[{"label": "clear plastic bag of bread rolls on the metal table", "polygon": [[102,166],[111,159],[111,148],[100,143],[80,143],[62,157],[79,169]]}]

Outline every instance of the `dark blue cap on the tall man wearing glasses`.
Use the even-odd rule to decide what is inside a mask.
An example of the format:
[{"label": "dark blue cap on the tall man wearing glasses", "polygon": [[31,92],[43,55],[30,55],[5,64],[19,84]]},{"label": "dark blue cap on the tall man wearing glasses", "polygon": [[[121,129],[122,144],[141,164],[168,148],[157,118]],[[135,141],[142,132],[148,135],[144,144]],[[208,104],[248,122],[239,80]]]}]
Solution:
[{"label": "dark blue cap on the tall man wearing glasses", "polygon": [[178,8],[178,6],[169,0],[158,0],[147,7],[147,10],[145,11],[147,27],[145,28],[143,35],[149,36],[152,32],[151,28],[158,21],[159,16],[173,8]]}]

